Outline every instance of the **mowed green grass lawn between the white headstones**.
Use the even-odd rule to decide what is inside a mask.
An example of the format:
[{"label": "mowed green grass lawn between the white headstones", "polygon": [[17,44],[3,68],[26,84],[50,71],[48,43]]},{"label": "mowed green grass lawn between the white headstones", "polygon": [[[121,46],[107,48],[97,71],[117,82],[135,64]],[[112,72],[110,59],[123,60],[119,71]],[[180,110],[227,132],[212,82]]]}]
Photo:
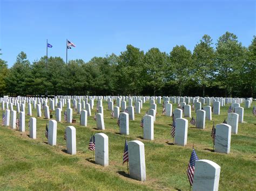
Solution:
[{"label": "mowed green grass lawn between the white headstones", "polygon": [[[245,103],[241,104],[244,107]],[[253,101],[253,105],[256,102]],[[26,104],[27,107],[28,104]],[[115,105],[114,105],[115,106]],[[162,105],[157,104],[157,117],[154,122],[154,140],[143,140],[140,120],[150,108],[149,101],[143,104],[141,114],[135,114],[135,120],[129,121],[130,135],[119,135],[117,119],[111,117],[107,102],[103,101],[105,130],[96,129],[92,116],[88,117],[87,127],[76,124],[57,124],[57,145],[50,146],[45,138],[45,124],[48,119],[36,117],[36,109],[32,109],[32,117],[37,118],[37,139],[29,138],[26,115],[24,133],[0,126],[0,188],[1,189],[119,189],[149,190],[170,189],[189,190],[186,169],[190,160],[192,146],[199,159],[216,162],[220,167],[219,190],[254,190],[256,186],[256,117],[252,115],[252,107],[244,109],[244,123],[239,123],[238,134],[232,134],[231,152],[229,154],[214,153],[211,138],[213,121],[216,124],[227,119],[230,104],[221,107],[220,115],[212,114],[212,121],[206,120],[206,128],[196,129],[188,124],[187,145],[173,145],[170,136],[172,118],[161,115]],[[173,104],[173,110],[177,104]],[[16,107],[14,107],[16,109]],[[63,111],[62,110],[62,121]],[[1,111],[2,113],[2,111]],[[25,110],[27,113],[27,108]],[[192,116],[196,113],[192,111]],[[53,111],[53,119],[55,112]],[[188,123],[191,118],[187,118]],[[64,131],[66,126],[76,128],[77,154],[65,152]],[[109,136],[109,166],[95,164],[92,151],[87,149],[92,134],[103,132]],[[140,182],[129,178],[127,165],[122,165],[125,138],[140,140],[145,144],[146,181]]]}]

